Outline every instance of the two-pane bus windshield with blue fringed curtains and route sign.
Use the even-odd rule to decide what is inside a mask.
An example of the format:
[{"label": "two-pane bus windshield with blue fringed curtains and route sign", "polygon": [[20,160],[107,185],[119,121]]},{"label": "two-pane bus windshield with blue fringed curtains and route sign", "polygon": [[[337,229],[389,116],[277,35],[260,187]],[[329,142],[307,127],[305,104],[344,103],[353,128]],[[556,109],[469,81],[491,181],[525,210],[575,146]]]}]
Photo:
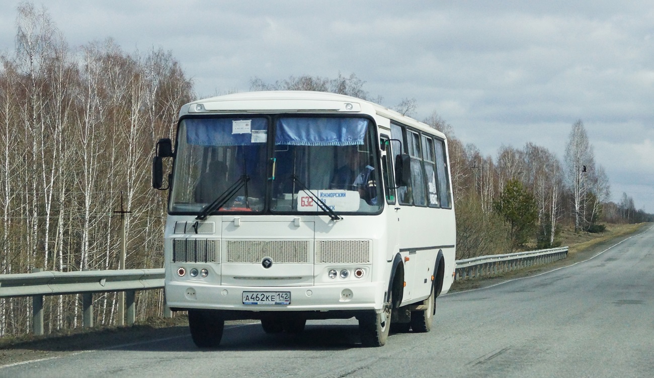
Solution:
[{"label": "two-pane bus windshield with blue fringed curtains and route sign", "polygon": [[317,198],[339,214],[377,213],[374,131],[360,117],[185,118],[169,210],[199,213],[229,196],[211,213],[324,213]]}]

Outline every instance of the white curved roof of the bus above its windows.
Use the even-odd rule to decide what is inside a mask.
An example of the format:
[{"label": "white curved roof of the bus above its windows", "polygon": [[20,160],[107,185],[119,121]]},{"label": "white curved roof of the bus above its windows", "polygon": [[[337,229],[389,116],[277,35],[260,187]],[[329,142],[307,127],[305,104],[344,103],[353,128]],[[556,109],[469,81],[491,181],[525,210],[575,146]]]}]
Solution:
[{"label": "white curved roof of the bus above its windows", "polygon": [[241,92],[199,99],[182,106],[179,116],[213,113],[261,113],[261,112],[335,112],[366,113],[382,116],[407,126],[412,126],[446,139],[445,135],[411,117],[376,103],[349,95],[313,91],[260,91]]}]

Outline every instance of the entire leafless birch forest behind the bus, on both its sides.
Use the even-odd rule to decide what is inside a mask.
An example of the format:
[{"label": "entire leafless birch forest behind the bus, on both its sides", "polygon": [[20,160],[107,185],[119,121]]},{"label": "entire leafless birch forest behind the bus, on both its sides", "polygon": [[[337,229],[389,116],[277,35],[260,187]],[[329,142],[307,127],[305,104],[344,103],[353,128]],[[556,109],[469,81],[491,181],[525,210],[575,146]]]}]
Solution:
[{"label": "entire leafless birch forest behind the bus, on both its sides", "polygon": [[[48,12],[29,3],[18,8],[16,48],[0,61],[1,273],[117,269],[113,212],[121,197],[131,211],[126,267],[162,267],[166,193],[150,188],[150,161],[155,141],[174,137],[179,107],[195,97],[179,63],[163,50],[124,52],[111,39],[68,46]],[[383,103],[364,84],[354,74],[272,84],[253,78],[250,89],[320,90]],[[412,116],[415,99],[393,108]],[[449,137],[457,258],[552,247],[563,224],[596,232],[602,222],[651,220],[627,194],[609,201],[608,177],[581,121],[572,125],[563,160],[533,143],[483,156],[437,112],[423,121]],[[534,214],[528,239],[517,242],[508,213],[498,212],[498,199],[511,198],[501,196],[509,187]],[[46,297],[46,333],[80,326],[80,301]],[[139,293],[137,317],[158,315],[162,301],[156,290]],[[0,299],[0,336],[28,332],[29,302]],[[95,324],[115,324],[115,294],[96,296],[95,308]]]}]

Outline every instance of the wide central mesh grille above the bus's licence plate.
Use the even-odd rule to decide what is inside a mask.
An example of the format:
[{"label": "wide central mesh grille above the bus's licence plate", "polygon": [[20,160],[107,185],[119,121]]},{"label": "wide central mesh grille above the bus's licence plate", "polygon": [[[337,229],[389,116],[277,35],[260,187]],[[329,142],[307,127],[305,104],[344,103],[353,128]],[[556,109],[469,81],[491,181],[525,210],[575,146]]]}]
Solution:
[{"label": "wide central mesh grille above the bus's licence plate", "polygon": [[259,264],[269,257],[277,264],[307,264],[309,240],[228,240],[226,261]]}]

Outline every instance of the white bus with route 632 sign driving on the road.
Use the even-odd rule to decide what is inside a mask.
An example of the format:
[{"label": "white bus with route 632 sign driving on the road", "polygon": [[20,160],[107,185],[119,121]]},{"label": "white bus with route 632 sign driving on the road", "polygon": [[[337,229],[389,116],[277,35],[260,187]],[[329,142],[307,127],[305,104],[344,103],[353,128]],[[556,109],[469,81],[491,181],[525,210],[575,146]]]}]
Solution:
[{"label": "white bus with route 632 sign driving on the road", "polygon": [[[162,158],[172,158],[162,188]],[[225,320],[299,333],[358,319],[365,346],[428,332],[455,270],[445,135],[374,103],[252,92],[186,104],[175,148],[157,143],[168,189],[165,298],[198,347]]]}]

